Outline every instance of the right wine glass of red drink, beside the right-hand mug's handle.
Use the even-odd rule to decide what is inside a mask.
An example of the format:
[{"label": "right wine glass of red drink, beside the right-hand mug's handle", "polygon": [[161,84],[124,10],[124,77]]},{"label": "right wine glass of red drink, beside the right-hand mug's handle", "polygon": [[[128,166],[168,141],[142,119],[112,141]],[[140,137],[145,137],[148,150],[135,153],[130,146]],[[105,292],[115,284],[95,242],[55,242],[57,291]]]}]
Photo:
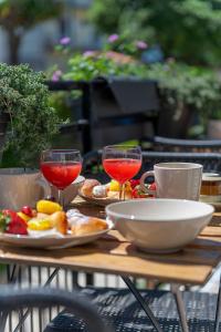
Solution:
[{"label": "right wine glass of red drink, beside the right-hand mug's handle", "polygon": [[131,179],[141,167],[139,146],[108,145],[102,154],[104,170],[119,184],[119,199],[125,199],[125,183]]}]

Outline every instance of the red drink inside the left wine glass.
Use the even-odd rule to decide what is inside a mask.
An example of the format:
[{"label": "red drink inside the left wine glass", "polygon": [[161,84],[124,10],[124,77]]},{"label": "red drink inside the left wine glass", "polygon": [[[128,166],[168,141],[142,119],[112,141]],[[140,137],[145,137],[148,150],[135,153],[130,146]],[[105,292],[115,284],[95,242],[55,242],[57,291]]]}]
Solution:
[{"label": "red drink inside the left wine glass", "polygon": [[80,175],[82,164],[80,162],[44,162],[41,163],[41,172],[49,183],[63,190]]}]

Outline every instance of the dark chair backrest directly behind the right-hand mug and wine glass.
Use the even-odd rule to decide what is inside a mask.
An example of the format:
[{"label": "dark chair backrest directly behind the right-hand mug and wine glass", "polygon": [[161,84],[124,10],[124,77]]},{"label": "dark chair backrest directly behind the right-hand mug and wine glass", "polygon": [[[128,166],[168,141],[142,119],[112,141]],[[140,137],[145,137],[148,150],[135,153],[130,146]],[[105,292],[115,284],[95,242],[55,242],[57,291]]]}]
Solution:
[{"label": "dark chair backrest directly behind the right-hand mug and wine glass", "polygon": [[[203,166],[203,172],[221,173],[220,153],[143,152],[143,166],[136,177],[152,169],[155,164],[169,162],[197,163]],[[94,151],[84,156],[83,174],[86,177],[97,178],[102,183],[109,180],[102,167],[102,151]]]}]

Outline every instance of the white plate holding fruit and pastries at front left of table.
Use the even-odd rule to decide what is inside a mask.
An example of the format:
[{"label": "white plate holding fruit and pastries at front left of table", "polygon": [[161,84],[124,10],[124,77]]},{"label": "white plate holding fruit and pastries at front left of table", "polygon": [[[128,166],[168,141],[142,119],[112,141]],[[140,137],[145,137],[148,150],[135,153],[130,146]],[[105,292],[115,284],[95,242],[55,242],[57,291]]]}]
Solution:
[{"label": "white plate holding fruit and pastries at front left of table", "polygon": [[80,245],[85,245],[98,239],[101,236],[109,231],[113,228],[112,221],[106,221],[108,227],[107,229],[91,232],[84,236],[48,236],[48,237],[38,237],[38,236],[20,236],[11,234],[0,234],[1,245],[13,246],[13,247],[27,247],[27,248],[44,248],[44,249],[62,249],[70,248]]}]

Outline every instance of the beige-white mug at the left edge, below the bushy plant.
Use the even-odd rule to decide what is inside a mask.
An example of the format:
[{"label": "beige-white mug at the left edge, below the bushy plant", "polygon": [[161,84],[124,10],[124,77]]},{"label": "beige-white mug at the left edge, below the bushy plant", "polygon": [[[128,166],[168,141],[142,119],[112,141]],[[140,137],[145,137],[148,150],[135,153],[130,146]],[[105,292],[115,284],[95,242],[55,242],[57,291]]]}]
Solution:
[{"label": "beige-white mug at the left edge, below the bushy plant", "polygon": [[0,209],[20,210],[35,207],[39,199],[51,194],[41,173],[24,168],[0,168]]}]

